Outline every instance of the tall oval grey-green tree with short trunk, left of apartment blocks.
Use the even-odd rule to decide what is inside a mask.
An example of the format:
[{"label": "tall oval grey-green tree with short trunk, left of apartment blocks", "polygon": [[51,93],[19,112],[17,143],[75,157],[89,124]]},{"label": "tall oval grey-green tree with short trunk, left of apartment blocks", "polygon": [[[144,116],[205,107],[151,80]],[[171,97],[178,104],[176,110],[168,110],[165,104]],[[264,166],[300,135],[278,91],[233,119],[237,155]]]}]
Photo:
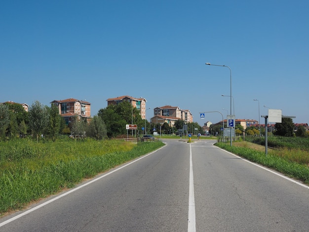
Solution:
[{"label": "tall oval grey-green tree with short trunk, left of apartment blocks", "polygon": [[48,109],[39,101],[35,101],[29,108],[29,125],[34,134],[37,135],[37,141],[39,134],[41,134],[47,126],[48,122]]}]

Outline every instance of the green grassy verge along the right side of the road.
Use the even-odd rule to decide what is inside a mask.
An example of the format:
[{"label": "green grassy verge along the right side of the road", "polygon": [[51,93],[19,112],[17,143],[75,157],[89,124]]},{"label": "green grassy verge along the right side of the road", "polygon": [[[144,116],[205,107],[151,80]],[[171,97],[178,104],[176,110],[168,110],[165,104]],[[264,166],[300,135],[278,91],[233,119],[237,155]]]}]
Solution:
[{"label": "green grassy verge along the right side of the road", "polygon": [[263,146],[258,147],[249,142],[233,143],[232,147],[226,143],[217,143],[216,146],[309,184],[308,152],[299,149],[276,149],[265,155]]}]

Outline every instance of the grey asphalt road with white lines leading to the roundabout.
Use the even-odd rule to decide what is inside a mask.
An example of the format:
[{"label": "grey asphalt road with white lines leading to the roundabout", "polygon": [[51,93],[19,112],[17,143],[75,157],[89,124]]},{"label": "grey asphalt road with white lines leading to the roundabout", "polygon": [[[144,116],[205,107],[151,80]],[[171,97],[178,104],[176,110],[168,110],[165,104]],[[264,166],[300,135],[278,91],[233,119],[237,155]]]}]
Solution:
[{"label": "grey asphalt road with white lines leading to the roundabout", "polygon": [[215,146],[167,146],[0,219],[0,232],[309,231],[309,188]]}]

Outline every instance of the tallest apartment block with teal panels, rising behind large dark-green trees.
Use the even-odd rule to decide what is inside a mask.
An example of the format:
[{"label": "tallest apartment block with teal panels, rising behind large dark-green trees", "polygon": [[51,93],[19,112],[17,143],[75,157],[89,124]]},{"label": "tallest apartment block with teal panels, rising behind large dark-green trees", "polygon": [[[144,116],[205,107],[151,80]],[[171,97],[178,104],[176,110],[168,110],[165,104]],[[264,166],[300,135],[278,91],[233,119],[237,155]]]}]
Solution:
[{"label": "tallest apartment block with teal panels, rising behind large dark-green trees", "polygon": [[121,102],[129,102],[133,107],[139,110],[140,115],[143,119],[146,119],[146,99],[145,98],[134,98],[131,96],[120,96],[116,98],[109,98],[106,100],[107,106],[116,105]]}]

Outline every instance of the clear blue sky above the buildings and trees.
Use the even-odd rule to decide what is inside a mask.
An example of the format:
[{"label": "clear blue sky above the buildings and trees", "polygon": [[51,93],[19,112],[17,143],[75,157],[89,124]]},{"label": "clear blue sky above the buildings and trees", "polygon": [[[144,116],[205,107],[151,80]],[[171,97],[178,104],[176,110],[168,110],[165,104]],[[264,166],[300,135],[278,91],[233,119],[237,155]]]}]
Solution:
[{"label": "clear blue sky above the buildings and trees", "polygon": [[[199,124],[281,109],[309,123],[308,0],[11,0],[0,7],[0,102],[122,95]],[[259,102],[253,101],[258,99]],[[225,109],[225,110],[223,110]],[[227,112],[228,110],[229,112]],[[147,119],[153,110],[147,111]]]}]

